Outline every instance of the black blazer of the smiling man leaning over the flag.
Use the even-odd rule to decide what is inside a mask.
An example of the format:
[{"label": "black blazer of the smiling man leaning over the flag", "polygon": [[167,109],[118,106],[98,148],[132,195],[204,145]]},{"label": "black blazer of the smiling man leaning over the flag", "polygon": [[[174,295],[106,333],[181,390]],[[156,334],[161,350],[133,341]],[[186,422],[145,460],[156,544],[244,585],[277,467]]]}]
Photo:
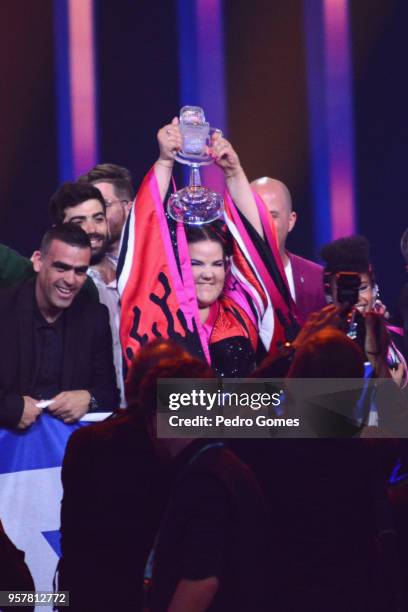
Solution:
[{"label": "black blazer of the smiling man leaning over the flag", "polygon": [[[0,292],[0,426],[15,427],[23,395],[32,395],[35,366],[33,332],[35,279]],[[97,410],[119,405],[112,336],[105,306],[81,293],[66,311],[61,391],[87,389]]]}]

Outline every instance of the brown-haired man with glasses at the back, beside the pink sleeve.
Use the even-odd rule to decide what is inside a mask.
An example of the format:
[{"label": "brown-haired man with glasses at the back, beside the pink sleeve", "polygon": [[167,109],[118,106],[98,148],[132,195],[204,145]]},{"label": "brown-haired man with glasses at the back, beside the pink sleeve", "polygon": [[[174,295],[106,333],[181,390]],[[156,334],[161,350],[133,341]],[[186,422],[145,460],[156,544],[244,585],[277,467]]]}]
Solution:
[{"label": "brown-haired man with glasses at the back, beside the pink sleeve", "polygon": [[117,263],[122,229],[134,199],[132,176],[127,168],[116,164],[98,164],[79,177],[80,183],[95,185],[106,204],[109,243],[108,257]]}]

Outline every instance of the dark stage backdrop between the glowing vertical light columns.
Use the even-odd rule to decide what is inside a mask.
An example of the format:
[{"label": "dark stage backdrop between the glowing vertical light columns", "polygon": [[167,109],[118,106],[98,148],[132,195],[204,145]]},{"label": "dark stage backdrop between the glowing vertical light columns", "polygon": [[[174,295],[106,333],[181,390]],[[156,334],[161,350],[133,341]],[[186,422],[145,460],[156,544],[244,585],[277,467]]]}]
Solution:
[{"label": "dark stage backdrop between the glowing vertical light columns", "polygon": [[[98,161],[127,166],[140,182],[157,154],[157,129],[178,113],[182,93],[194,91],[197,79],[194,71],[180,70],[180,49],[186,43],[194,48],[182,26],[189,16],[180,19],[180,7],[193,6],[199,16],[221,8],[227,135],[251,179],[272,175],[288,184],[300,216],[289,247],[316,257],[305,2],[94,0]],[[25,255],[47,227],[48,199],[61,176],[59,130],[67,126],[58,123],[55,15],[69,3],[2,2],[0,241]],[[325,0],[316,4],[328,6]],[[408,6],[404,0],[359,0],[348,3],[348,15],[357,230],[373,244],[383,298],[392,307],[405,278],[398,243],[408,225]]]}]

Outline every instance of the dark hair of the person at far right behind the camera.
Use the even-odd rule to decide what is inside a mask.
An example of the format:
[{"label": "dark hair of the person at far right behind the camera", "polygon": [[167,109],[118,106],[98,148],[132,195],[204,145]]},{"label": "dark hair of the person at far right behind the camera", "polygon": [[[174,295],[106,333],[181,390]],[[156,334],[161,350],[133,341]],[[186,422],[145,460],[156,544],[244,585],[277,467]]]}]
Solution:
[{"label": "dark hair of the person at far right behind the camera", "polygon": [[371,274],[370,245],[364,236],[339,238],[320,251],[325,272],[359,272]]}]

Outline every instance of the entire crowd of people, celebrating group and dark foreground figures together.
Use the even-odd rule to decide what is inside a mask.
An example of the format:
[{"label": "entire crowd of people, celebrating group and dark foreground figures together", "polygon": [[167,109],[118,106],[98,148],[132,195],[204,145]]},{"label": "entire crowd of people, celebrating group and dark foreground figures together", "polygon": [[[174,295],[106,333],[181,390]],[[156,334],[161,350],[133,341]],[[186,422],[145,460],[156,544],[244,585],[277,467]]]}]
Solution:
[{"label": "entire crowd of people, celebrating group and dark foreground figures together", "polygon": [[[128,170],[100,164],[51,197],[30,260],[0,245],[0,427],[111,413],[66,448],[59,589],[84,612],[407,610],[408,496],[390,484],[406,465],[406,288],[389,313],[362,236],[326,245],[323,266],[289,252],[288,189],[250,183],[220,134],[224,218],[177,224],[178,119],[157,139],[136,198]],[[280,415],[304,435],[161,438],[166,378],[281,379]],[[306,379],[359,383],[322,399]],[[12,589],[32,580],[0,530]]]}]

